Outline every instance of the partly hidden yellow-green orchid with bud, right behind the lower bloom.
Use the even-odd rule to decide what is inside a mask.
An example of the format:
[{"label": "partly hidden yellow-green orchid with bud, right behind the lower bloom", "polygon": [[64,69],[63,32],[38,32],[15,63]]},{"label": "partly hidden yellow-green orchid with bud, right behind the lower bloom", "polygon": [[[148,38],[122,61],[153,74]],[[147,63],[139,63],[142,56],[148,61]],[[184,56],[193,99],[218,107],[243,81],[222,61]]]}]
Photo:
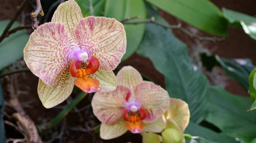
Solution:
[{"label": "partly hidden yellow-green orchid with bud, right behind the lower bloom", "polygon": [[185,143],[183,132],[186,129],[190,118],[188,104],[181,99],[170,98],[169,100],[169,107],[163,115],[166,129],[162,132],[162,136],[154,133],[142,132],[143,143]]}]

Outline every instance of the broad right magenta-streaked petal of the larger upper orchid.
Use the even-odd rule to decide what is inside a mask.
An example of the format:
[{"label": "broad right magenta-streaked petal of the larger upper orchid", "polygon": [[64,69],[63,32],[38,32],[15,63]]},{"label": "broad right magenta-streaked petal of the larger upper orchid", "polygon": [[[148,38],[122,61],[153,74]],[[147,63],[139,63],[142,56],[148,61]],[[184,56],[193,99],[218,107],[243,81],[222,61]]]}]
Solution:
[{"label": "broad right magenta-streaked petal of the larger upper orchid", "polygon": [[124,27],[115,19],[88,16],[78,21],[74,33],[81,51],[99,58],[99,70],[114,70],[126,52]]}]

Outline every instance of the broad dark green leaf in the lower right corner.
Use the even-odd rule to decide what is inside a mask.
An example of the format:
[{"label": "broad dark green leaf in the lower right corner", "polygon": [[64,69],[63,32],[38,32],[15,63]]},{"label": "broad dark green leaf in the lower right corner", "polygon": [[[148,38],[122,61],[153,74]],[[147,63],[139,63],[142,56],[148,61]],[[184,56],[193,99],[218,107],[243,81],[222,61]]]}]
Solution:
[{"label": "broad dark green leaf in the lower right corner", "polygon": [[211,110],[206,120],[229,136],[250,142],[256,137],[256,111],[247,112],[251,98],[235,96],[220,87],[209,90]]}]

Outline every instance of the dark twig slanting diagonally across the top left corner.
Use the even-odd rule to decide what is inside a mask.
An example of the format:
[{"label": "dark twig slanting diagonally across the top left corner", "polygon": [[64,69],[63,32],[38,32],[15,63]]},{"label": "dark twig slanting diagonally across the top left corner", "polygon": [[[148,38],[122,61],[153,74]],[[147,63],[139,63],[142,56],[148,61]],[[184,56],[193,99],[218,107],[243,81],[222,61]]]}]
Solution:
[{"label": "dark twig slanting diagonally across the top left corner", "polygon": [[9,29],[11,28],[12,24],[16,21],[17,17],[20,15],[20,13],[24,10],[26,4],[28,3],[29,0],[24,0],[21,4],[21,6],[19,7],[19,9],[17,10],[17,12],[14,14],[14,16],[11,18],[10,22],[8,23],[8,25],[5,27],[4,32],[2,33],[1,37],[0,37],[0,42],[3,41],[3,39],[5,39],[5,35],[8,33]]}]

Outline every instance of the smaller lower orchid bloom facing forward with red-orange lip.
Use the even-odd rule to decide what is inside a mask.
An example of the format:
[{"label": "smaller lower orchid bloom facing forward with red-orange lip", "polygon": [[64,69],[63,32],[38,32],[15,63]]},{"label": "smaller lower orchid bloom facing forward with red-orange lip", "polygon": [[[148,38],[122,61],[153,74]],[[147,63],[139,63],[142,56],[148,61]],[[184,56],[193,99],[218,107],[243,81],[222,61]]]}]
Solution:
[{"label": "smaller lower orchid bloom facing forward with red-orange lip", "polygon": [[131,66],[117,73],[117,88],[112,92],[95,93],[94,115],[102,122],[100,137],[113,139],[127,130],[159,133],[165,127],[162,118],[169,106],[169,95],[153,82],[143,81]]}]

